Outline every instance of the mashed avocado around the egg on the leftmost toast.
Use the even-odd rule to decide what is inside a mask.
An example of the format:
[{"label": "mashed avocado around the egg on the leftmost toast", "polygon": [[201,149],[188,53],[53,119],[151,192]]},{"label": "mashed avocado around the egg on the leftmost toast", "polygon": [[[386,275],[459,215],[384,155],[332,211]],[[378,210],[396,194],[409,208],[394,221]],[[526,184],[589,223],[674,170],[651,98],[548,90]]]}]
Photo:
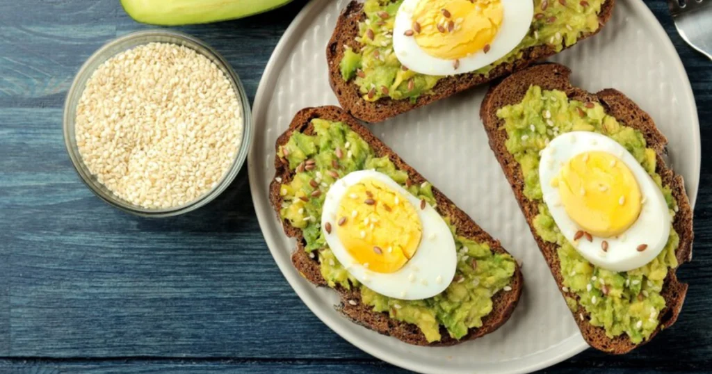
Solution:
[{"label": "mashed avocado around the egg on the leftmost toast", "polygon": [[[368,143],[343,123],[315,119],[312,124],[315,135],[293,133],[279,149],[278,154],[286,155],[290,169],[296,171],[293,180],[281,185],[280,215],[293,227],[302,229],[305,250],[310,256],[318,256],[321,274],[329,286],[357,287],[363,303],[398,321],[417,325],[429,342],[441,340],[440,326],[456,339],[465,336],[469,328],[482,326],[482,318],[492,311],[492,296],[511,283],[515,261],[508,254],[494,254],[487,244],[458,235],[452,225],[458,251],[456,275],[450,286],[434,297],[404,301],[377,294],[359,284],[339,264],[319,225],[325,193],[313,193],[328,189],[337,180],[334,171],[343,177],[357,170],[376,170],[429,204],[435,204],[435,199],[429,183],[407,182],[406,172],[398,170],[388,157],[375,157]],[[337,148],[341,158],[337,157]],[[310,163],[314,167],[304,167],[308,159],[314,161]],[[449,222],[448,217],[444,219]]]}]

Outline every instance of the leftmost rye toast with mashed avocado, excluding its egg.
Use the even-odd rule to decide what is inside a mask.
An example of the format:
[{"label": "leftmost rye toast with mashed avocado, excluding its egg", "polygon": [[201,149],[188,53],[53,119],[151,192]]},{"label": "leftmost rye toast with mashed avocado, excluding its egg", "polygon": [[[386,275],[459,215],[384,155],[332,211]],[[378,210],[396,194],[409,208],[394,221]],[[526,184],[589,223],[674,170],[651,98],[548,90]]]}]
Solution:
[{"label": "leftmost rye toast with mashed avocado, excluding its egg", "polygon": [[[449,346],[491,333],[511,316],[523,287],[516,261],[344,110],[333,106],[300,110],[278,137],[276,155],[270,199],[285,233],[297,241],[293,265],[311,283],[334,289],[341,298],[337,309],[352,321],[405,343]],[[307,164],[309,160],[314,161]],[[320,239],[319,225],[302,217],[320,216],[325,195],[321,191],[326,192],[337,176],[366,168],[389,175],[446,218],[459,254],[456,276],[443,294],[417,301],[375,294],[335,261]]]}]

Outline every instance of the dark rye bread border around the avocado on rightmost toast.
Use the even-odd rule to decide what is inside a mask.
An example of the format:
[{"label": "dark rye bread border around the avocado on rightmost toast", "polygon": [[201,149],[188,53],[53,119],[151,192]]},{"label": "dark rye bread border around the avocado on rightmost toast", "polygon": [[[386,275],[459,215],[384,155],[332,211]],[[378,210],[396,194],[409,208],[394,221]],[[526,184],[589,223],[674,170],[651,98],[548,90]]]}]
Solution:
[{"label": "dark rye bread border around the avocado on rightmost toast", "polygon": [[[606,89],[593,94],[572,86],[569,80],[570,73],[569,68],[555,63],[533,66],[515,73],[490,88],[483,100],[480,116],[489,137],[490,147],[495,152],[497,160],[512,186],[531,232],[539,245],[539,249],[546,258],[562,295],[578,299],[575,293],[562,290],[561,269],[556,252],[557,246],[543,241],[535,232],[533,220],[538,214],[538,203],[532,202],[524,196],[524,180],[520,166],[506,149],[507,133],[503,129],[504,121],[497,117],[499,108],[520,103],[531,85],[538,85],[545,90],[562,90],[572,100],[600,103],[607,114],[617,118],[624,125],[641,131],[648,147],[653,148],[657,153],[656,172],[662,177],[663,185],[671,187],[673,197],[679,207],[673,222],[673,227],[680,236],[680,245],[676,251],[679,264],[691,259],[693,232],[692,209],[685,193],[682,177],[666,167],[662,155],[665,152],[667,139],[656,128],[650,115],[617,90]],[[675,323],[685,300],[686,292],[687,284],[682,284],[678,281],[676,269],[670,269],[661,292],[661,295],[665,298],[666,308],[659,314],[660,324],[652,333],[650,339],[663,328]],[[580,318],[581,313],[584,316],[583,320]],[[585,340],[590,346],[598,350],[615,354],[627,353],[647,342],[634,344],[625,334],[612,339],[608,338],[603,328],[592,326],[589,323],[588,313],[580,305],[578,310],[573,312],[573,315]]]}]

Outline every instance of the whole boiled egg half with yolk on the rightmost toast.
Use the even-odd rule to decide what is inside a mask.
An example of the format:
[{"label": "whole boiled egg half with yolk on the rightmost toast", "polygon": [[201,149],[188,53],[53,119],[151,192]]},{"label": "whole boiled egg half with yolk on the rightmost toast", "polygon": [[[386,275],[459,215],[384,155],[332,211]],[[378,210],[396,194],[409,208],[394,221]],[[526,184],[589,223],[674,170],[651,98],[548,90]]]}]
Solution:
[{"label": "whole boiled egg half with yolk on the rightmost toast", "polygon": [[561,233],[592,264],[629,271],[664,248],[671,222],[665,197],[611,138],[583,131],[555,137],[542,152],[539,177]]}]

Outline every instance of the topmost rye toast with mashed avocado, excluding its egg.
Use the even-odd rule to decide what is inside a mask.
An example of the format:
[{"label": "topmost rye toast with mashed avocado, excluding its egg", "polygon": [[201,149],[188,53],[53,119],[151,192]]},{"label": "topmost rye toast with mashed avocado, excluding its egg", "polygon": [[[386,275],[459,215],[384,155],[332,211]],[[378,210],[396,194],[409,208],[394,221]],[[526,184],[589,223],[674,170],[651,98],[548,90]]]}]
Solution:
[{"label": "topmost rye toast with mashed avocado, excluding its egg", "polygon": [[388,35],[401,1],[352,1],[327,46],[329,81],[340,105],[366,122],[387,120],[553,56],[598,33],[615,3],[534,0],[532,26],[517,48],[478,71],[443,77],[408,71],[392,53]]}]

